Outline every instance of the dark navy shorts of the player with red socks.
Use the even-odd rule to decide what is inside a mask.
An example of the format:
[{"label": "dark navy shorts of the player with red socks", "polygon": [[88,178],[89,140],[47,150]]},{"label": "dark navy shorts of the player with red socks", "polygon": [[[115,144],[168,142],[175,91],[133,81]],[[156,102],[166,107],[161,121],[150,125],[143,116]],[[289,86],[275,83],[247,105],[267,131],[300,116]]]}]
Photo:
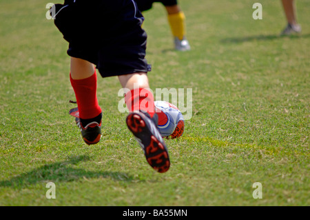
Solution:
[{"label": "dark navy shorts of the player with red socks", "polygon": [[50,11],[68,54],[94,63],[102,77],[150,70],[143,16],[133,0],[72,0]]}]

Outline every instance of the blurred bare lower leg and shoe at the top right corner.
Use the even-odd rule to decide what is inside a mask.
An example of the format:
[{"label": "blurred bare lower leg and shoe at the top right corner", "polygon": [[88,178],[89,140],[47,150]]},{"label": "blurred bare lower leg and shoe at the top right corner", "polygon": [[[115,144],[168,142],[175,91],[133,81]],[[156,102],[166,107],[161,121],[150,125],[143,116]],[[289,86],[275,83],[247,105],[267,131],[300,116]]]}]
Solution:
[{"label": "blurred bare lower leg and shoe at the top right corner", "polygon": [[287,18],[287,26],[281,32],[281,35],[289,35],[301,32],[301,27],[297,23],[296,4],[294,0],[282,0],[282,6]]}]

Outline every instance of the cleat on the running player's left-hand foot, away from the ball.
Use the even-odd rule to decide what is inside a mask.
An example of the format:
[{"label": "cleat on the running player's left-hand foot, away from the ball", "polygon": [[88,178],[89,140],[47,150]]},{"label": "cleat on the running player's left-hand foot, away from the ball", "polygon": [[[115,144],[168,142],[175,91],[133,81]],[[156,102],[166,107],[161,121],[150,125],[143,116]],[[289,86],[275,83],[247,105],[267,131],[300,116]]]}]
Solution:
[{"label": "cleat on the running player's left-hand foot, away from the ball", "polygon": [[92,121],[83,127],[81,120],[79,119],[79,109],[72,108],[69,112],[72,116],[75,117],[76,125],[80,128],[83,140],[88,145],[96,144],[101,139],[101,121],[100,123]]}]

